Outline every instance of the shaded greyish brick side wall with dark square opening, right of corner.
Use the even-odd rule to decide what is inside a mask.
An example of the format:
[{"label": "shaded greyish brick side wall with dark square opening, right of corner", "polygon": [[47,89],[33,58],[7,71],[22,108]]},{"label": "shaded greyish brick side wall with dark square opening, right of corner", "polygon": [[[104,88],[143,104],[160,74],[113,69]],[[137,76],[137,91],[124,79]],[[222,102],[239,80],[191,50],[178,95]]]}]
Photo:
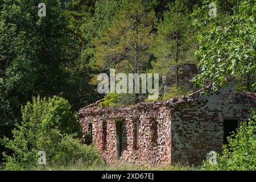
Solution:
[{"label": "shaded greyish brick side wall with dark square opening, right of corner", "polygon": [[172,109],[172,162],[200,164],[209,151],[221,151],[224,118],[240,122],[250,118],[256,108],[256,94],[236,93],[230,84],[218,94],[210,92],[194,101],[180,103]]}]

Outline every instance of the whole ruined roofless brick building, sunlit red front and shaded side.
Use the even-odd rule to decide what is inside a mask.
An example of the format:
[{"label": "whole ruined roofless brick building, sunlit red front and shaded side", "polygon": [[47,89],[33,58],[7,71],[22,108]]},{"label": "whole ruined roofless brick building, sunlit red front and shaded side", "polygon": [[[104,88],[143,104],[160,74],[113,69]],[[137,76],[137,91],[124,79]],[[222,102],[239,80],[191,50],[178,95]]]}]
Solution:
[{"label": "whole ruined roofless brick building, sunlit red front and shaded side", "polygon": [[80,122],[109,163],[196,164],[220,151],[229,132],[256,108],[256,94],[236,93],[233,86],[199,93],[133,106],[96,103],[80,110]]}]

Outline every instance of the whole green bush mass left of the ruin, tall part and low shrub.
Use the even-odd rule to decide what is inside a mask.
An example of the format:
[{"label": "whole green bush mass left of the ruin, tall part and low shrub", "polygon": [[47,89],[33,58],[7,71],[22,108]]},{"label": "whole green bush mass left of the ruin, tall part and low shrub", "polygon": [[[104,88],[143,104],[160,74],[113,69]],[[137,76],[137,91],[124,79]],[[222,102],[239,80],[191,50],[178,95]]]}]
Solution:
[{"label": "whole green bush mass left of the ruin, tall part and low shrub", "polygon": [[38,165],[38,151],[46,152],[47,166],[67,165],[77,160],[85,165],[100,162],[93,146],[82,144],[81,127],[68,101],[53,96],[33,98],[22,107],[22,123],[13,130],[13,139],[2,140],[13,155],[5,156],[7,170],[24,170]]}]

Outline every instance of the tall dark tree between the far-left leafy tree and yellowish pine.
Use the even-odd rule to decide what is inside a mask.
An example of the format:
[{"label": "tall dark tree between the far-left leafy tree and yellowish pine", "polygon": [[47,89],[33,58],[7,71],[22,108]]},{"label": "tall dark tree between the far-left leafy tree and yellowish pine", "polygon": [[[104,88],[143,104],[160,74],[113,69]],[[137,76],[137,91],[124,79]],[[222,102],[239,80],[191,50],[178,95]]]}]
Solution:
[{"label": "tall dark tree between the far-left leafy tree and yellowish pine", "polygon": [[[95,86],[90,84],[92,70],[84,59],[83,52],[90,40],[84,36],[82,26],[94,16],[96,1],[75,0],[65,3],[63,15],[66,23],[66,34],[63,37],[65,64],[63,84],[59,96],[66,98],[73,110],[98,100]],[[89,52],[89,51],[88,51]]]}]

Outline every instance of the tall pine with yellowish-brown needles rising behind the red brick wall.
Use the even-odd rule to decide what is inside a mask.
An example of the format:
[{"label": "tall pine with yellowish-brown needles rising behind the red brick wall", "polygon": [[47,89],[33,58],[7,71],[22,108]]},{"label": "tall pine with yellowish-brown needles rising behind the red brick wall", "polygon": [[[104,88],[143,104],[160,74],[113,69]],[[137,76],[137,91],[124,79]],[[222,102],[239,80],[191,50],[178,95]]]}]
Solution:
[{"label": "tall pine with yellowish-brown needles rising behind the red brick wall", "polygon": [[[154,11],[146,11],[142,1],[122,1],[119,13],[96,47],[96,65],[102,70],[117,68],[125,73],[148,69]],[[139,94],[135,94],[135,103]]]}]

